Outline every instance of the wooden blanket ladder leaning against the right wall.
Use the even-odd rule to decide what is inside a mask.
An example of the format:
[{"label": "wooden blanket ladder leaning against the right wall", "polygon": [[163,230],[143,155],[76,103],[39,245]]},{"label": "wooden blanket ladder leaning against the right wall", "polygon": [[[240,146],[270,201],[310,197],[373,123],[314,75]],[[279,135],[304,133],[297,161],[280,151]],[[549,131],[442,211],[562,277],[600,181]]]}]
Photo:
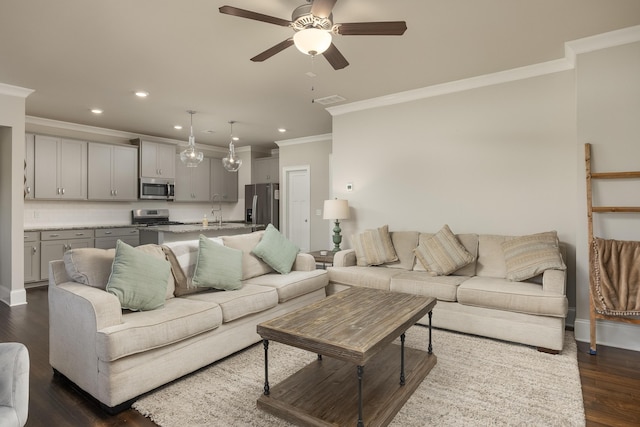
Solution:
[{"label": "wooden blanket ladder leaning against the right wall", "polygon": [[591,265],[595,261],[593,259],[593,213],[619,213],[619,212],[637,212],[640,213],[639,206],[593,206],[591,181],[594,179],[629,179],[640,178],[640,171],[631,172],[592,172],[591,171],[591,144],[584,145],[584,157],[587,170],[587,219],[589,223],[589,353],[596,354],[596,320],[604,319],[614,322],[634,323],[640,324],[640,319],[608,316],[606,314],[600,314],[596,312],[595,305],[593,303],[593,291],[592,284],[594,278],[591,275]]}]

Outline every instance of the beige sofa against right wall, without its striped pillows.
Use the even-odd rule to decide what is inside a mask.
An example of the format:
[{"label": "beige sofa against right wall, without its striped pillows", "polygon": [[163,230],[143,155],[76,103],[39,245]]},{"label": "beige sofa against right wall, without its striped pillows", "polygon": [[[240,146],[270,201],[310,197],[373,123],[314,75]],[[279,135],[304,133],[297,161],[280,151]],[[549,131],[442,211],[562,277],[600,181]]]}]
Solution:
[{"label": "beige sofa against right wall, without its striped pillows", "polygon": [[[438,299],[433,326],[536,346],[562,350],[566,272],[548,269],[532,279],[506,279],[502,243],[516,236],[460,234],[459,241],[474,261],[446,276],[431,276],[416,260],[414,249],[431,233],[391,232],[399,260],[380,266],[356,266],[354,249],[335,254],[329,267],[328,294],[347,286],[364,286],[432,296]],[[564,248],[560,245],[564,255]],[[419,323],[428,324],[428,317]]]}]

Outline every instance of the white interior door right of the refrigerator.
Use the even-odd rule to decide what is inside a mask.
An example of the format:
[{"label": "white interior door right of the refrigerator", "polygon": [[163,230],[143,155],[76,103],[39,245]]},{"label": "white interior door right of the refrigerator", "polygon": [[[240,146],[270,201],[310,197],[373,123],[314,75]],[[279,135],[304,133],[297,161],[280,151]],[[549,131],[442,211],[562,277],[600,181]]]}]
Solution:
[{"label": "white interior door right of the refrigerator", "polygon": [[286,234],[302,252],[309,252],[310,230],[309,168],[291,168],[285,171],[286,190]]}]

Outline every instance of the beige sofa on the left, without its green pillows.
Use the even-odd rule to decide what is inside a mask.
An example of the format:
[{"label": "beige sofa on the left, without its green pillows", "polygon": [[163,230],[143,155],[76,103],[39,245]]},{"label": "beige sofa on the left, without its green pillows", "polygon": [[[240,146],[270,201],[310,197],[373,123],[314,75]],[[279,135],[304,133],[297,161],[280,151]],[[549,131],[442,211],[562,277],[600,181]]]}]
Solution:
[{"label": "beige sofa on the left, without its green pillows", "polygon": [[294,253],[292,271],[279,274],[251,254],[261,233],[221,238],[224,246],[243,251],[236,290],[193,289],[184,282],[193,276],[197,240],[136,248],[172,261],[164,306],[149,311],[123,310],[118,297],[104,290],[113,250],[72,250],[65,260],[52,261],[54,372],[108,412],[119,412],[137,396],[259,342],[258,323],[325,298],[327,273],[315,269],[311,255]]}]

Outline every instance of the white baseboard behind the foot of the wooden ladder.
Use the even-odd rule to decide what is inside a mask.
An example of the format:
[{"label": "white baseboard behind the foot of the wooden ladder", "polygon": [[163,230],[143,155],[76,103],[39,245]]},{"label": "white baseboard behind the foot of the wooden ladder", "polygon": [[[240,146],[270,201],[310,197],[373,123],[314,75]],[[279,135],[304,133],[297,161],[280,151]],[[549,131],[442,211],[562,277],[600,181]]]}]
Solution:
[{"label": "white baseboard behind the foot of the wooden ladder", "polygon": [[[589,342],[589,319],[576,319],[574,333],[576,340]],[[640,326],[598,320],[596,325],[596,344],[640,351]]]}]

